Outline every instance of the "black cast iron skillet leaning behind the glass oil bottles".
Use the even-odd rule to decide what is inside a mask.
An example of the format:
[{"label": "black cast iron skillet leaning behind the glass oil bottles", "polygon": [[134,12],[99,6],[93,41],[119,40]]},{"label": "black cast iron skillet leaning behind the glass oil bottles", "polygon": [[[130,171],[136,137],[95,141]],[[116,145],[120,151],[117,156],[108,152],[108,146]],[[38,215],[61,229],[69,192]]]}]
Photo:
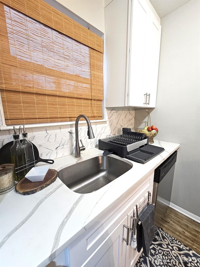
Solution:
[{"label": "black cast iron skillet leaning behind the glass oil bottles", "polygon": [[[11,155],[10,155],[10,148],[11,148],[12,145],[13,145],[13,141],[8,142],[7,144],[5,144],[4,146],[2,146],[0,148],[0,164],[12,163]],[[53,159],[42,159],[42,158],[40,158],[37,146],[32,143],[32,147],[33,147],[33,153],[34,153],[34,157],[35,157],[35,161],[36,161],[35,164],[37,164],[38,162],[46,162],[46,163],[49,163],[49,164],[53,164],[54,163]]]}]

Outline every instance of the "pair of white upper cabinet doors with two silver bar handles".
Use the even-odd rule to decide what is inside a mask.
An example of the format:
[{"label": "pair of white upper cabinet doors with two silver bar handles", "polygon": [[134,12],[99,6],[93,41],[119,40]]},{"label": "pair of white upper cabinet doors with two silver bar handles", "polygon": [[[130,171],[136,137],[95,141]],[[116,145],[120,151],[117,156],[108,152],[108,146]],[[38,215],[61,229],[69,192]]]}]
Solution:
[{"label": "pair of white upper cabinet doors with two silver bar handles", "polygon": [[145,0],[133,0],[128,72],[128,106],[155,107],[161,25]]}]

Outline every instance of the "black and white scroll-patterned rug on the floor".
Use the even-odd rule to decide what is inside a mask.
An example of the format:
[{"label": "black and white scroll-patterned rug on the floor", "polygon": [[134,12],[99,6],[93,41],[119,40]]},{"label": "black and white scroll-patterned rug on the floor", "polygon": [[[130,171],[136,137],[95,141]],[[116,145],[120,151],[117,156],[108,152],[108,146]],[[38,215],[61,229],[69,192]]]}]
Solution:
[{"label": "black and white scroll-patterned rug on the floor", "polygon": [[[200,267],[200,255],[158,228],[150,247],[149,262],[151,267]],[[148,266],[143,253],[135,266]]]}]

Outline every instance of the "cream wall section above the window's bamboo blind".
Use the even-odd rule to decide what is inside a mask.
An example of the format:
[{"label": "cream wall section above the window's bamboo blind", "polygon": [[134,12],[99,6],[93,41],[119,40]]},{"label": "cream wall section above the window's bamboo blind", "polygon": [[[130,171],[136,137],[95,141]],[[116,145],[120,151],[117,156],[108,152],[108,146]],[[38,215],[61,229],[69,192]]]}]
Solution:
[{"label": "cream wall section above the window's bamboo blind", "polygon": [[104,0],[56,0],[105,33]]}]

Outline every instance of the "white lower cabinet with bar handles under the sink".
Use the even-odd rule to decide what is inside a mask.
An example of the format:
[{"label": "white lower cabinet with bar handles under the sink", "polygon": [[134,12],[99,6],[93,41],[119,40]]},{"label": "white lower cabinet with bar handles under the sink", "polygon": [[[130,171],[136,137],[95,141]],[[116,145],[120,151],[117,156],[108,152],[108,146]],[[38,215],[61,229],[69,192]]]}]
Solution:
[{"label": "white lower cabinet with bar handles under the sink", "polygon": [[131,247],[131,216],[135,205],[149,190],[153,191],[153,173],[65,250],[66,266],[134,266],[141,252]]}]

